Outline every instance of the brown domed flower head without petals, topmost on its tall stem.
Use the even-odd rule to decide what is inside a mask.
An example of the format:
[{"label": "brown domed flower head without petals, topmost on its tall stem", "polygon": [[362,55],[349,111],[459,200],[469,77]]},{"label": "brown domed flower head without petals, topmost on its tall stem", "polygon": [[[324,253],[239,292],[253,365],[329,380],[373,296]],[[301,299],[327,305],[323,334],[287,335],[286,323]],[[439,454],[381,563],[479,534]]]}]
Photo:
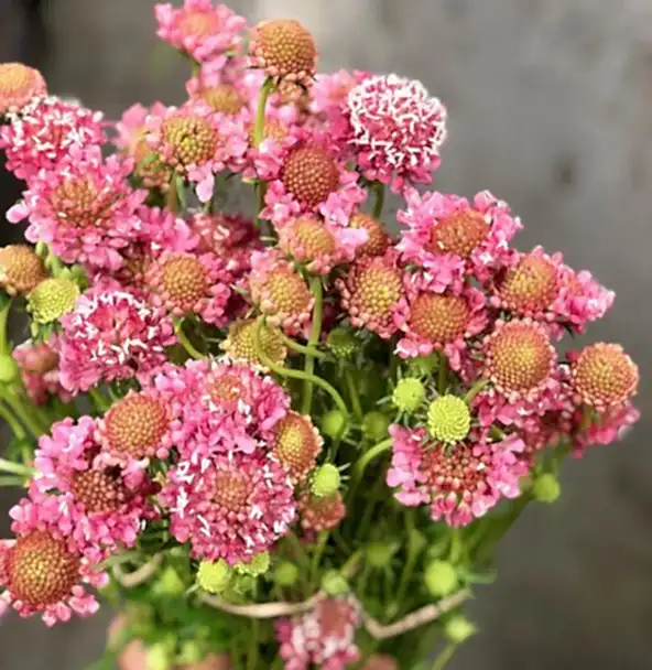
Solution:
[{"label": "brown domed flower head without petals, topmost on its tall stem", "polygon": [[256,53],[274,75],[312,74],[317,60],[313,35],[291,19],[265,21],[256,26]]}]

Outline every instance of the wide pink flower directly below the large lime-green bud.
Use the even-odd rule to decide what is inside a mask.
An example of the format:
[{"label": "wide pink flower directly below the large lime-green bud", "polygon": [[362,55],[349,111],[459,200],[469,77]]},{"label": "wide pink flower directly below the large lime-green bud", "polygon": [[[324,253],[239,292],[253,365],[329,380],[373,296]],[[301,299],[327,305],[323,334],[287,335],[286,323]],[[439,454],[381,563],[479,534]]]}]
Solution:
[{"label": "wide pink flower directly below the large lime-green bud", "polygon": [[525,445],[518,436],[488,442],[474,431],[465,442],[445,449],[428,443],[425,429],[394,424],[390,435],[388,486],[399,488],[395,497],[408,507],[430,505],[434,521],[467,526],[501,498],[520,495],[519,479],[528,465],[520,458]]}]

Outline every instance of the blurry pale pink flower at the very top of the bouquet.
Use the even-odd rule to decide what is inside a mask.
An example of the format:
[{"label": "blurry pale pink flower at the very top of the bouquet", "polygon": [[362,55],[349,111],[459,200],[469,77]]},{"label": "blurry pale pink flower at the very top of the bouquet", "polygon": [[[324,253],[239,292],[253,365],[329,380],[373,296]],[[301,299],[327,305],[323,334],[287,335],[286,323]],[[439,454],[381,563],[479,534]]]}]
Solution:
[{"label": "blurry pale pink flower at the very top of the bouquet", "polygon": [[181,9],[156,4],[155,14],[156,35],[198,63],[224,65],[247,28],[246,19],[211,0],[185,0]]}]

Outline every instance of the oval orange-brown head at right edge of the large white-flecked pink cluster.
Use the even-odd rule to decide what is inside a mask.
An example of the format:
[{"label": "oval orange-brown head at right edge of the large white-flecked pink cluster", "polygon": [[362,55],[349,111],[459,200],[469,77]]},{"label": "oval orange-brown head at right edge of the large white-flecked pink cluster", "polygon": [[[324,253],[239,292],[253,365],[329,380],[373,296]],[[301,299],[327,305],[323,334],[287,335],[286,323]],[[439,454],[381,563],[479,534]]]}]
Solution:
[{"label": "oval orange-brown head at right edge of the large white-flecked pink cluster", "polygon": [[324,440],[309,417],[289,412],[274,426],[272,453],[285,466],[293,484],[305,482],[315,468]]}]

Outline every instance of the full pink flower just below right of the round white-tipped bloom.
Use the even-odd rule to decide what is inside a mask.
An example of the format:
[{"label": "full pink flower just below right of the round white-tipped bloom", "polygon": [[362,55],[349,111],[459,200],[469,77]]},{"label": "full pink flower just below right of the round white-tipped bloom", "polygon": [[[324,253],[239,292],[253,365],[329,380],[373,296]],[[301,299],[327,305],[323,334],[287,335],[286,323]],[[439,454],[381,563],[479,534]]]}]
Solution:
[{"label": "full pink flower just below right of the round white-tipped bloom", "polygon": [[408,208],[399,212],[398,249],[405,262],[423,268],[444,291],[461,288],[465,274],[483,282],[506,264],[509,241],[522,227],[508,205],[483,191],[472,205],[457,195],[415,190],[405,194]]}]

